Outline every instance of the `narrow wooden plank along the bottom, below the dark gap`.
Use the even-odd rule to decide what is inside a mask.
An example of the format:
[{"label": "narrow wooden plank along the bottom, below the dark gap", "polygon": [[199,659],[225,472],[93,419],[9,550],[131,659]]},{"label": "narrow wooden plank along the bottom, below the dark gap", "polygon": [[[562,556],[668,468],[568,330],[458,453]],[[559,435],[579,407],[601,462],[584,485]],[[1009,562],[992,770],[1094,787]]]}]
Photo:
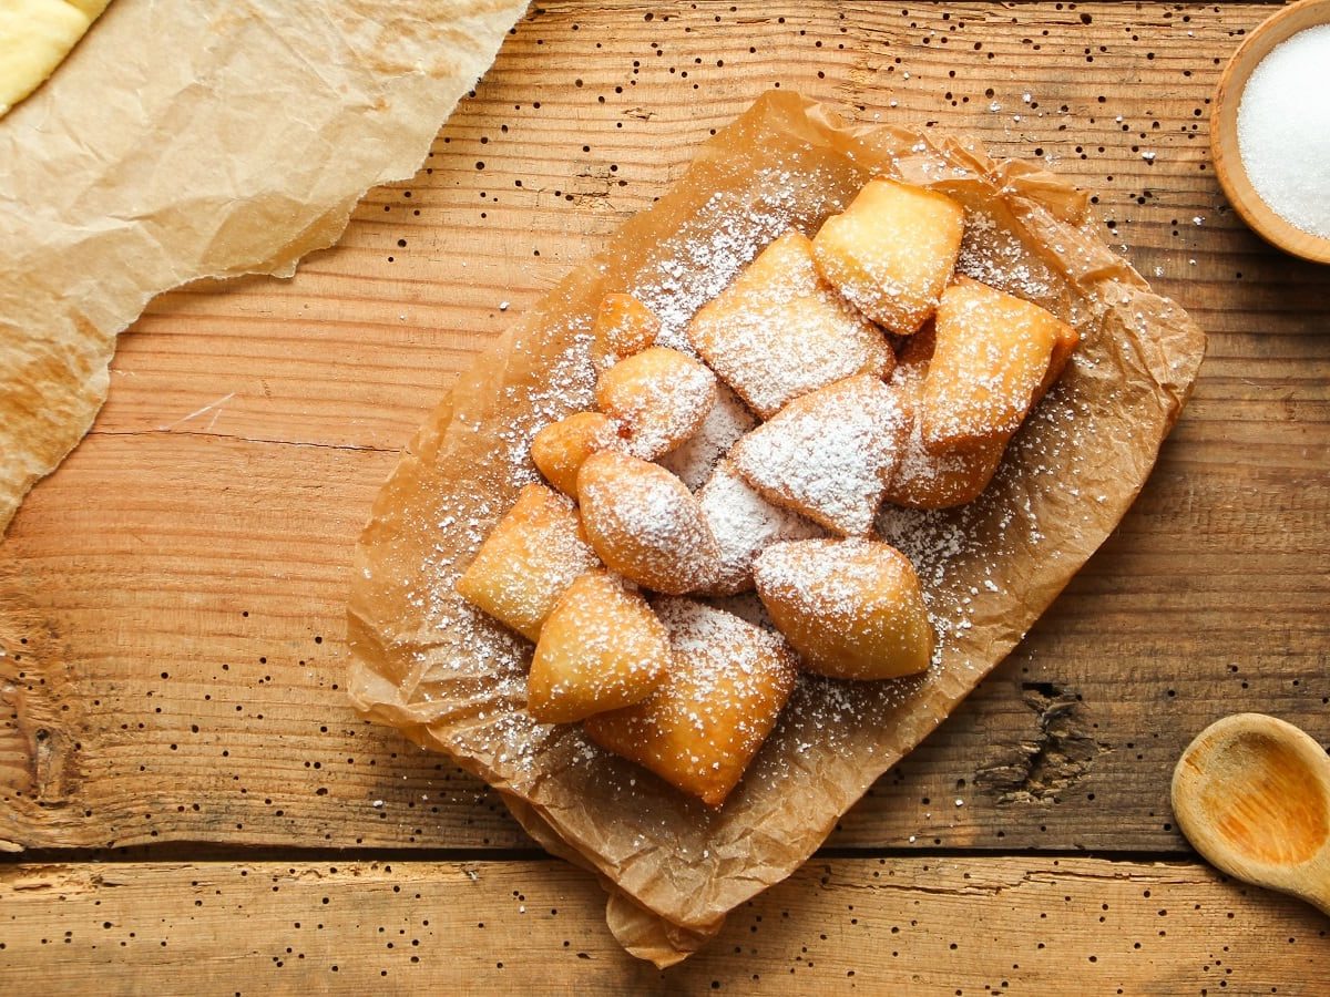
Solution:
[{"label": "narrow wooden plank along the bottom, below the dark gap", "polygon": [[0,982],[43,993],[1315,993],[1325,921],[1206,867],[815,861],[666,972],[561,863],[0,868]]}]

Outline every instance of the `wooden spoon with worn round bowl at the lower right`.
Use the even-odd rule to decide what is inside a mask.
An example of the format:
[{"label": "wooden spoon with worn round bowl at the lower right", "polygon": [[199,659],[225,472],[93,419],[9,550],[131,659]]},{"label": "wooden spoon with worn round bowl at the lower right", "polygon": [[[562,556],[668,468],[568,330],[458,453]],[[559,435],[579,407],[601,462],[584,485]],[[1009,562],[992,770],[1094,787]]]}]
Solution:
[{"label": "wooden spoon with worn round bowl at the lower right", "polygon": [[1240,713],[1201,731],[1173,770],[1173,812],[1224,872],[1330,913],[1330,756],[1291,723]]}]

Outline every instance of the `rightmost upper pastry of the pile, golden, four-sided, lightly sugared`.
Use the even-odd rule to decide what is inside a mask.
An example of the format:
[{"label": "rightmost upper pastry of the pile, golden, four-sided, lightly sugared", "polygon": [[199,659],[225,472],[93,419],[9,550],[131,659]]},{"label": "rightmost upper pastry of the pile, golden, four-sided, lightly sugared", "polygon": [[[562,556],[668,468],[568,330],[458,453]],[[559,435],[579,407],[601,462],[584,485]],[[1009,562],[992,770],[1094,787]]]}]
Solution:
[{"label": "rightmost upper pastry of the pile, golden, four-sided, lightly sugared", "polygon": [[[1076,331],[1037,304],[960,278],[942,295],[919,420],[928,449],[1009,437]],[[1065,359],[1064,359],[1065,362]]]}]

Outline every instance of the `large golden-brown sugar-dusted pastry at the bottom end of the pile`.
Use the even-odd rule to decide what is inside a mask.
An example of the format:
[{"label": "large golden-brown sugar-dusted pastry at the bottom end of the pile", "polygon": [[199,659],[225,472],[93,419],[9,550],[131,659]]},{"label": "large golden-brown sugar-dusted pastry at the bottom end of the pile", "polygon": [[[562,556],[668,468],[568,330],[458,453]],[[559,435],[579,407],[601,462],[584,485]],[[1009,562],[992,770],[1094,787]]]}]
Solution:
[{"label": "large golden-brown sugar-dusted pastry at the bottom end of the pile", "polygon": [[720,807],[794,689],[785,641],[692,600],[658,600],[669,674],[648,699],[589,717],[592,740]]}]

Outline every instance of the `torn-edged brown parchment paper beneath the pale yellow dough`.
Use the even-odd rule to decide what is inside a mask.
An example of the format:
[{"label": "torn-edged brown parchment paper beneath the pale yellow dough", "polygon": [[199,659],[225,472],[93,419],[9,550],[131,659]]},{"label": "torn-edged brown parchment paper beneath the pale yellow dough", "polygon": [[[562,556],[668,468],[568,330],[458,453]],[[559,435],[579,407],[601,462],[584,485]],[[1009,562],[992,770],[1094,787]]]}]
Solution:
[{"label": "torn-edged brown parchment paper beneath the pale yellow dough", "polygon": [[412,175],[525,0],[117,0],[0,120],[0,533],[202,277],[290,275]]}]

